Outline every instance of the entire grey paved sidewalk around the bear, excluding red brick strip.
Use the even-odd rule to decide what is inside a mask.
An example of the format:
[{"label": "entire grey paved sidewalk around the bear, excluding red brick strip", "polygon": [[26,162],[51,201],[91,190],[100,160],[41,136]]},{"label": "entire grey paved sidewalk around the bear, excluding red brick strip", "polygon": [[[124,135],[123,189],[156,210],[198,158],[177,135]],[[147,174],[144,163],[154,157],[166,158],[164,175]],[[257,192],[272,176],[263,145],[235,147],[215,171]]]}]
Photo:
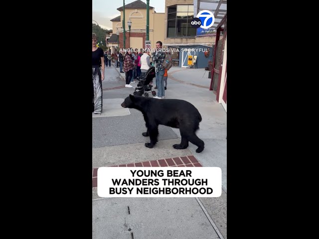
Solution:
[{"label": "entire grey paved sidewalk around the bear, excluding red brick strip", "polygon": [[[119,210],[128,203],[136,205],[138,217],[129,223],[138,225],[134,226],[139,238],[149,237],[153,233],[153,238],[188,238],[187,235],[181,232],[188,231],[189,238],[206,238],[201,231],[205,232],[209,239],[227,238],[227,114],[221,104],[216,102],[216,95],[209,91],[210,79],[208,79],[208,71],[204,69],[187,69],[172,67],[168,71],[167,90],[165,91],[166,99],[182,99],[193,104],[202,116],[200,122],[200,130],[197,131],[197,136],[205,142],[205,149],[201,153],[196,153],[196,146],[189,143],[187,149],[176,150],[172,144],[180,142],[179,130],[160,125],[159,127],[159,142],[153,149],[144,146],[145,142],[149,141],[149,137],[142,136],[142,132],[146,130],[145,121],[141,112],[135,109],[126,110],[119,113],[121,110],[117,104],[123,101],[129,94],[133,94],[134,88],[125,88],[124,73],[119,73],[120,68],[115,68],[114,63],[111,67],[106,67],[105,80],[103,81],[103,99],[104,109],[108,109],[106,116],[94,117],[92,114],[92,168],[102,166],[112,166],[115,164],[136,164],[139,162],[169,158],[181,158],[184,156],[194,155],[202,166],[220,167],[222,169],[222,196],[219,198],[157,198],[156,202],[151,199],[147,201],[147,205],[151,211],[154,210],[157,214],[143,211],[145,198],[112,198],[101,199],[96,194],[96,188],[92,188],[93,199],[93,215],[92,223],[95,228],[93,238],[102,238],[102,235],[117,235],[117,238],[122,238],[115,230],[115,226],[101,223],[101,215],[107,212],[111,215],[118,215],[119,225],[124,224],[124,219],[128,216],[121,214]],[[155,83],[155,79],[154,79]],[[137,83],[131,84],[134,87]],[[112,110],[114,115],[112,115]],[[128,112],[129,111],[129,112]],[[115,114],[117,112],[117,114]],[[190,200],[192,199],[192,200]],[[99,203],[97,203],[97,201]],[[194,201],[195,200],[195,201]],[[158,208],[156,205],[162,205]],[[164,209],[171,210],[183,205],[187,212],[201,212],[196,216],[195,221],[192,214],[186,214],[179,217],[178,214],[165,214]],[[122,205],[119,208],[114,205]],[[152,206],[154,205],[154,206]],[[105,211],[102,210],[105,209]],[[102,211],[101,211],[102,210]],[[199,211],[198,211],[199,210]],[[178,211],[178,210],[177,210]],[[168,212],[168,211],[167,211]],[[180,215],[181,216],[181,215]],[[169,221],[168,221],[168,219]],[[97,219],[98,218],[98,219]],[[143,218],[143,226],[138,222],[138,219]],[[212,219],[210,222],[209,219]],[[156,220],[155,220],[156,219]],[[155,221],[154,221],[155,220]],[[182,220],[182,221],[180,221]],[[183,220],[191,222],[193,227],[186,226],[187,223]],[[196,224],[196,220],[199,223]],[[122,222],[123,221],[123,222]],[[176,227],[181,227],[183,230],[167,230],[169,225],[165,223],[176,224]],[[178,222],[184,222],[181,226]],[[202,228],[200,225],[210,225]],[[127,222],[128,225],[128,222]],[[178,226],[179,225],[179,226]],[[215,228],[214,228],[215,226]],[[148,228],[157,228],[157,231],[150,231]],[[166,228],[166,229],[165,229]],[[210,231],[212,230],[213,231]],[[215,234],[214,234],[215,233]],[[128,236],[128,235],[127,235]],[[210,237],[208,237],[210,236]],[[126,236],[123,236],[126,238]],[[136,238],[136,237],[134,237]]]}]

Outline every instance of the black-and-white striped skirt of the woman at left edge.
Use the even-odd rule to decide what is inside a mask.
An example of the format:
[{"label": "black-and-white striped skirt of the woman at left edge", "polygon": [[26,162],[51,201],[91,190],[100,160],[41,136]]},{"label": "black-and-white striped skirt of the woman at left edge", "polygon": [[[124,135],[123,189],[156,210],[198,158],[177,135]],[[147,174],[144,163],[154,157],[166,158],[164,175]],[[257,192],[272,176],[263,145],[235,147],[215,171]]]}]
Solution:
[{"label": "black-and-white striped skirt of the woman at left edge", "polygon": [[94,114],[102,113],[102,92],[103,91],[100,66],[92,66],[92,111],[94,111]]}]

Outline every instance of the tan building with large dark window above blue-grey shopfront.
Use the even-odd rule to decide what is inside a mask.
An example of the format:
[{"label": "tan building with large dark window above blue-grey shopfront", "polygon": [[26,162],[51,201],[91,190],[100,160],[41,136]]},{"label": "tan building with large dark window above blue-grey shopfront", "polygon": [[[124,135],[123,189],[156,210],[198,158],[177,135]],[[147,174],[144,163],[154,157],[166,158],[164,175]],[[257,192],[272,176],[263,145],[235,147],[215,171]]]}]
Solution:
[{"label": "tan building with large dark window above blue-grey shopfront", "polygon": [[194,68],[208,67],[212,60],[214,33],[199,34],[190,22],[194,18],[194,0],[165,1],[164,46],[173,49],[173,65],[188,66],[188,56],[196,58]]}]

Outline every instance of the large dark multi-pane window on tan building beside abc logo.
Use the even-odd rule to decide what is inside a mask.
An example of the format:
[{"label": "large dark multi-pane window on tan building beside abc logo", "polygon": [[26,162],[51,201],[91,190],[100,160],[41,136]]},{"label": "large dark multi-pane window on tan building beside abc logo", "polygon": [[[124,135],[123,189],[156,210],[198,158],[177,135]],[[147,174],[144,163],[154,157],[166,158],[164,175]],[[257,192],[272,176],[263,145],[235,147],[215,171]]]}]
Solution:
[{"label": "large dark multi-pane window on tan building beside abc logo", "polygon": [[196,28],[190,25],[193,5],[174,5],[167,8],[167,37],[194,37]]}]

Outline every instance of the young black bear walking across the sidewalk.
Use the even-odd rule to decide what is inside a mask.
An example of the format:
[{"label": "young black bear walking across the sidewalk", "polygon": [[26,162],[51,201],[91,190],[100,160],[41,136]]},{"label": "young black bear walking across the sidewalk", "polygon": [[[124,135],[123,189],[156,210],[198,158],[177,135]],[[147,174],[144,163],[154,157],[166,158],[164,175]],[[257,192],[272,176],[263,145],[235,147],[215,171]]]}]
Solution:
[{"label": "young black bear walking across the sidewalk", "polygon": [[174,144],[175,149],[188,147],[188,141],[198,148],[197,153],[204,150],[204,141],[195,134],[199,129],[201,116],[198,110],[189,102],[176,99],[153,99],[140,96],[127,97],[121,104],[124,108],[133,108],[143,113],[147,132],[143,136],[150,136],[151,142],[145,143],[148,148],[153,148],[158,142],[159,124],[179,128],[181,135],[180,144]]}]

